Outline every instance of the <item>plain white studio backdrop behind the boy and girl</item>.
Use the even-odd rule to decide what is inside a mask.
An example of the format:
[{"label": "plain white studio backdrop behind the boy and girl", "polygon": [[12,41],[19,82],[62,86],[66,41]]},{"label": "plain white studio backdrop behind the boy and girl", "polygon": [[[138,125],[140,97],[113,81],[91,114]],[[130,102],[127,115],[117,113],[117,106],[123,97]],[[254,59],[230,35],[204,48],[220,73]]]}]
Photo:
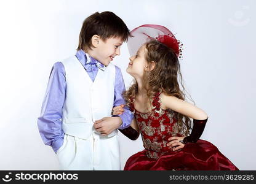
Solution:
[{"label": "plain white studio backdrop behind the boy and girl", "polygon": [[[0,170],[55,170],[36,125],[57,61],[74,55],[82,21],[110,10],[129,29],[163,25],[184,45],[186,89],[209,115],[201,139],[241,170],[255,170],[255,1],[0,1]],[[126,74],[127,45],[113,63]],[[121,166],[143,149],[119,135]]]}]

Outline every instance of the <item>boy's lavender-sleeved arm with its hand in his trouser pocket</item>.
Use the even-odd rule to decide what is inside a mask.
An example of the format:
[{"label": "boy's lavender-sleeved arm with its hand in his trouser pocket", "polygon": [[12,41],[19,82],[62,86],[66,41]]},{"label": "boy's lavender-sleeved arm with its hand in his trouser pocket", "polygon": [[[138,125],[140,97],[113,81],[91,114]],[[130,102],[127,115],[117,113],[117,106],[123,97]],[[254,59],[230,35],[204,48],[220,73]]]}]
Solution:
[{"label": "boy's lavender-sleeved arm with its hand in his trouser pocket", "polygon": [[38,118],[38,129],[42,140],[44,144],[51,146],[55,153],[63,144],[64,133],[61,118],[65,93],[65,68],[62,63],[57,62],[50,72],[46,96]]}]

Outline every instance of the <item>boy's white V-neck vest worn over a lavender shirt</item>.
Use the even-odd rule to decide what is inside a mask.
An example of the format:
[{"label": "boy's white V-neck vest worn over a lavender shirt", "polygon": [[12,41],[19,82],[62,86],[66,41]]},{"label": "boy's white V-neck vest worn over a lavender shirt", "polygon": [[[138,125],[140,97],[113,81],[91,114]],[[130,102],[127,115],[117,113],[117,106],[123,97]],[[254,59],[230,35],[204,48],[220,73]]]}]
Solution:
[{"label": "boy's white V-neck vest worn over a lavender shirt", "polygon": [[[114,102],[114,64],[98,69],[92,82],[76,56],[62,61],[66,72],[66,99],[62,108],[62,129],[65,134],[87,139],[93,132],[94,121],[111,117]],[[108,137],[117,134],[114,130]]]}]

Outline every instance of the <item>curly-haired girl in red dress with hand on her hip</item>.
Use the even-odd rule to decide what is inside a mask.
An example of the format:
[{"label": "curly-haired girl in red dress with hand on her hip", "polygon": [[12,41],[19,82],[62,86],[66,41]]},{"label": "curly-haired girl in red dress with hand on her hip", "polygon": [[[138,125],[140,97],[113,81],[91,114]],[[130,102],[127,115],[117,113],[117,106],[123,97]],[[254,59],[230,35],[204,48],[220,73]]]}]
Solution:
[{"label": "curly-haired girl in red dress with hand on her hip", "polygon": [[[207,114],[186,102],[180,90],[178,41],[170,34],[159,37],[143,44],[126,70],[135,79],[124,93],[135,118],[122,131],[133,140],[140,132],[145,150],[130,156],[124,170],[238,170],[215,145],[199,139]],[[113,115],[122,107],[114,107]]]}]

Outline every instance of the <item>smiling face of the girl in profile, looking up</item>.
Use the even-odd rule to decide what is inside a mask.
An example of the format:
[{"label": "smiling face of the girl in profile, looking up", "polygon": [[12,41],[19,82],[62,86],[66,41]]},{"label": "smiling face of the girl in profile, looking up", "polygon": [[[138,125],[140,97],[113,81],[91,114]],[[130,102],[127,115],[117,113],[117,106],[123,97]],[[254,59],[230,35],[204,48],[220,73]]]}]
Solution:
[{"label": "smiling face of the girl in profile, looking up", "polygon": [[132,77],[143,77],[144,72],[147,69],[148,62],[145,59],[145,46],[142,45],[138,49],[138,52],[135,56],[131,56],[130,58],[130,63],[126,69],[126,72]]}]

